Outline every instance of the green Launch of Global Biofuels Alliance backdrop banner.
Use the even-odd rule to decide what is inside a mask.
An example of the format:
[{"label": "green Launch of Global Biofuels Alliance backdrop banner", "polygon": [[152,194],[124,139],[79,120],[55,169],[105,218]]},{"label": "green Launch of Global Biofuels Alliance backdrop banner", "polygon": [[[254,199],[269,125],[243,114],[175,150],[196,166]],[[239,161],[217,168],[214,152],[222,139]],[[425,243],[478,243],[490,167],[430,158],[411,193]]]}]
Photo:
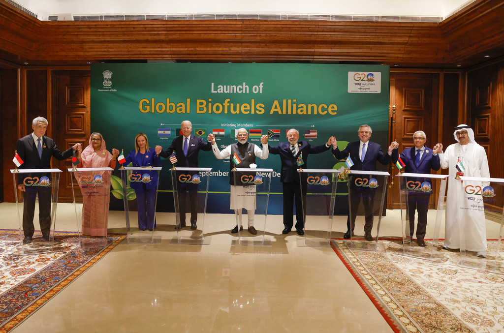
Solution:
[{"label": "green Launch of Global Biofuels Alliance backdrop banner", "polygon": [[[335,136],[344,148],[358,140],[357,129],[365,123],[372,127],[371,141],[385,150],[389,70],[386,65],[350,64],[92,64],[91,129],[101,132],[109,149],[123,149],[126,155],[135,149],[138,132],[147,134],[150,147],[168,148],[186,119],[193,123],[193,134],[204,140],[216,134],[221,150],[236,142],[234,131],[240,127],[249,130],[249,142],[257,145],[261,135],[268,135],[269,144],[276,146],[286,141],[288,129],[296,128],[300,141],[322,145]],[[256,163],[275,170],[269,213],[282,214],[279,156]],[[328,151],[310,156],[303,168],[340,165]],[[163,160],[161,166],[158,208],[171,211],[171,163]],[[208,211],[229,213],[229,161],[201,152],[200,167],[213,168]],[[341,196],[344,203],[346,196]],[[118,199],[111,205],[121,208]]]}]

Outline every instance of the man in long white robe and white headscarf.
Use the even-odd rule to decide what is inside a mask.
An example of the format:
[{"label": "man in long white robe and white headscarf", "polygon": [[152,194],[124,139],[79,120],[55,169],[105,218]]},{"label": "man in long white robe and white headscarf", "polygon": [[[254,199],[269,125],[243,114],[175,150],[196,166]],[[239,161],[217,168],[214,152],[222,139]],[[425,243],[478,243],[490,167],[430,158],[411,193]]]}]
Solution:
[{"label": "man in long white robe and white headscarf", "polygon": [[[460,159],[465,170],[464,176],[489,178],[488,160],[485,149],[474,141],[474,131],[466,124],[455,127],[455,140],[458,143],[448,146],[445,153],[439,154],[443,169],[449,168],[448,193],[446,203],[445,245],[444,249],[459,249],[476,252],[486,256],[486,224],[483,197],[481,194],[468,194],[467,185],[483,186],[483,182],[461,181],[455,179],[457,162]],[[443,145],[440,145],[443,149]],[[462,228],[462,230],[461,230]],[[463,232],[461,235],[461,231]],[[461,239],[464,243],[461,244]]]}]

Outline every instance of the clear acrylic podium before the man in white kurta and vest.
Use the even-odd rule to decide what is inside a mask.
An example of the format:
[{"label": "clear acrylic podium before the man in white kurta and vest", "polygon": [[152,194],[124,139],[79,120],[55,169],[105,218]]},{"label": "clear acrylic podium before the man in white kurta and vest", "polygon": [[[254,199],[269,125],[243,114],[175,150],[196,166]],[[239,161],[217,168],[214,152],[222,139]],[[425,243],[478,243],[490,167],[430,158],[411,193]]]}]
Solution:
[{"label": "clear acrylic podium before the man in white kurta and vest", "polygon": [[[257,230],[257,235],[251,235],[248,232],[247,211],[242,209],[243,230],[238,228],[238,239],[233,240],[232,245],[271,246],[271,239],[266,238],[265,233],[273,169],[236,168],[236,170],[232,170],[232,174],[234,183],[237,185],[235,186],[236,202],[241,202],[244,206],[248,205],[249,208],[255,208],[254,228]],[[230,200],[232,199],[230,197]],[[234,216],[233,219],[235,219]],[[236,224],[238,225],[237,222]]]}]

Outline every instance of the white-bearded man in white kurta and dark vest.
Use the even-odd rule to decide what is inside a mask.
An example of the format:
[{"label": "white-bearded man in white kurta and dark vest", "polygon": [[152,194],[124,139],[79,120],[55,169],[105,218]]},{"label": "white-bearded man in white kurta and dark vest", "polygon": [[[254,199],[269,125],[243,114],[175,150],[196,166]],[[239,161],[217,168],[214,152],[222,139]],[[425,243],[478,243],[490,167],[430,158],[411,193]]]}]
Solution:
[{"label": "white-bearded man in white kurta and dark vest", "polygon": [[[230,209],[234,210],[234,215],[236,217],[236,227],[231,230],[231,233],[237,233],[238,227],[240,230],[243,229],[241,225],[241,210],[247,210],[248,217],[248,232],[253,235],[257,235],[257,230],[254,228],[254,215],[256,211],[256,185],[239,185],[235,184],[234,172],[231,170],[233,167],[237,168],[248,168],[251,164],[254,164],[256,157],[266,160],[268,158],[268,136],[264,135],[261,137],[261,144],[263,149],[259,148],[253,143],[248,143],[248,132],[245,128],[240,128],[236,131],[235,144],[229,145],[224,150],[220,151],[219,147],[215,143],[215,136],[210,134],[208,136],[208,141],[212,142],[212,151],[214,155],[219,160],[230,158],[229,166],[229,177],[231,185],[231,195],[230,195]],[[239,181],[239,180],[236,180]]]}]

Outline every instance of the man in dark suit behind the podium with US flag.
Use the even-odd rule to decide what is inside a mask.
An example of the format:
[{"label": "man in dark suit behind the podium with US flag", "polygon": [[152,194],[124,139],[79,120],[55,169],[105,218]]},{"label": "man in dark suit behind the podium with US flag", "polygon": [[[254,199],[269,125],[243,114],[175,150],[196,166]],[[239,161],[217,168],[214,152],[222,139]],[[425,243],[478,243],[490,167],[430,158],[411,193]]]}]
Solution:
[{"label": "man in dark suit behind the podium with US flag", "polygon": [[[180,124],[182,135],[173,139],[171,146],[163,151],[161,146],[156,146],[156,153],[164,158],[170,157],[175,152],[177,156],[176,166],[180,168],[197,168],[198,154],[200,150],[211,151],[212,144],[204,142],[200,137],[191,134],[193,124],[189,120],[184,120]],[[196,230],[198,220],[198,184],[179,184],[177,183],[178,193],[178,213],[180,217],[180,228],[185,227],[185,203],[187,196],[191,205],[191,230]],[[175,229],[177,226],[175,226]]]}]

